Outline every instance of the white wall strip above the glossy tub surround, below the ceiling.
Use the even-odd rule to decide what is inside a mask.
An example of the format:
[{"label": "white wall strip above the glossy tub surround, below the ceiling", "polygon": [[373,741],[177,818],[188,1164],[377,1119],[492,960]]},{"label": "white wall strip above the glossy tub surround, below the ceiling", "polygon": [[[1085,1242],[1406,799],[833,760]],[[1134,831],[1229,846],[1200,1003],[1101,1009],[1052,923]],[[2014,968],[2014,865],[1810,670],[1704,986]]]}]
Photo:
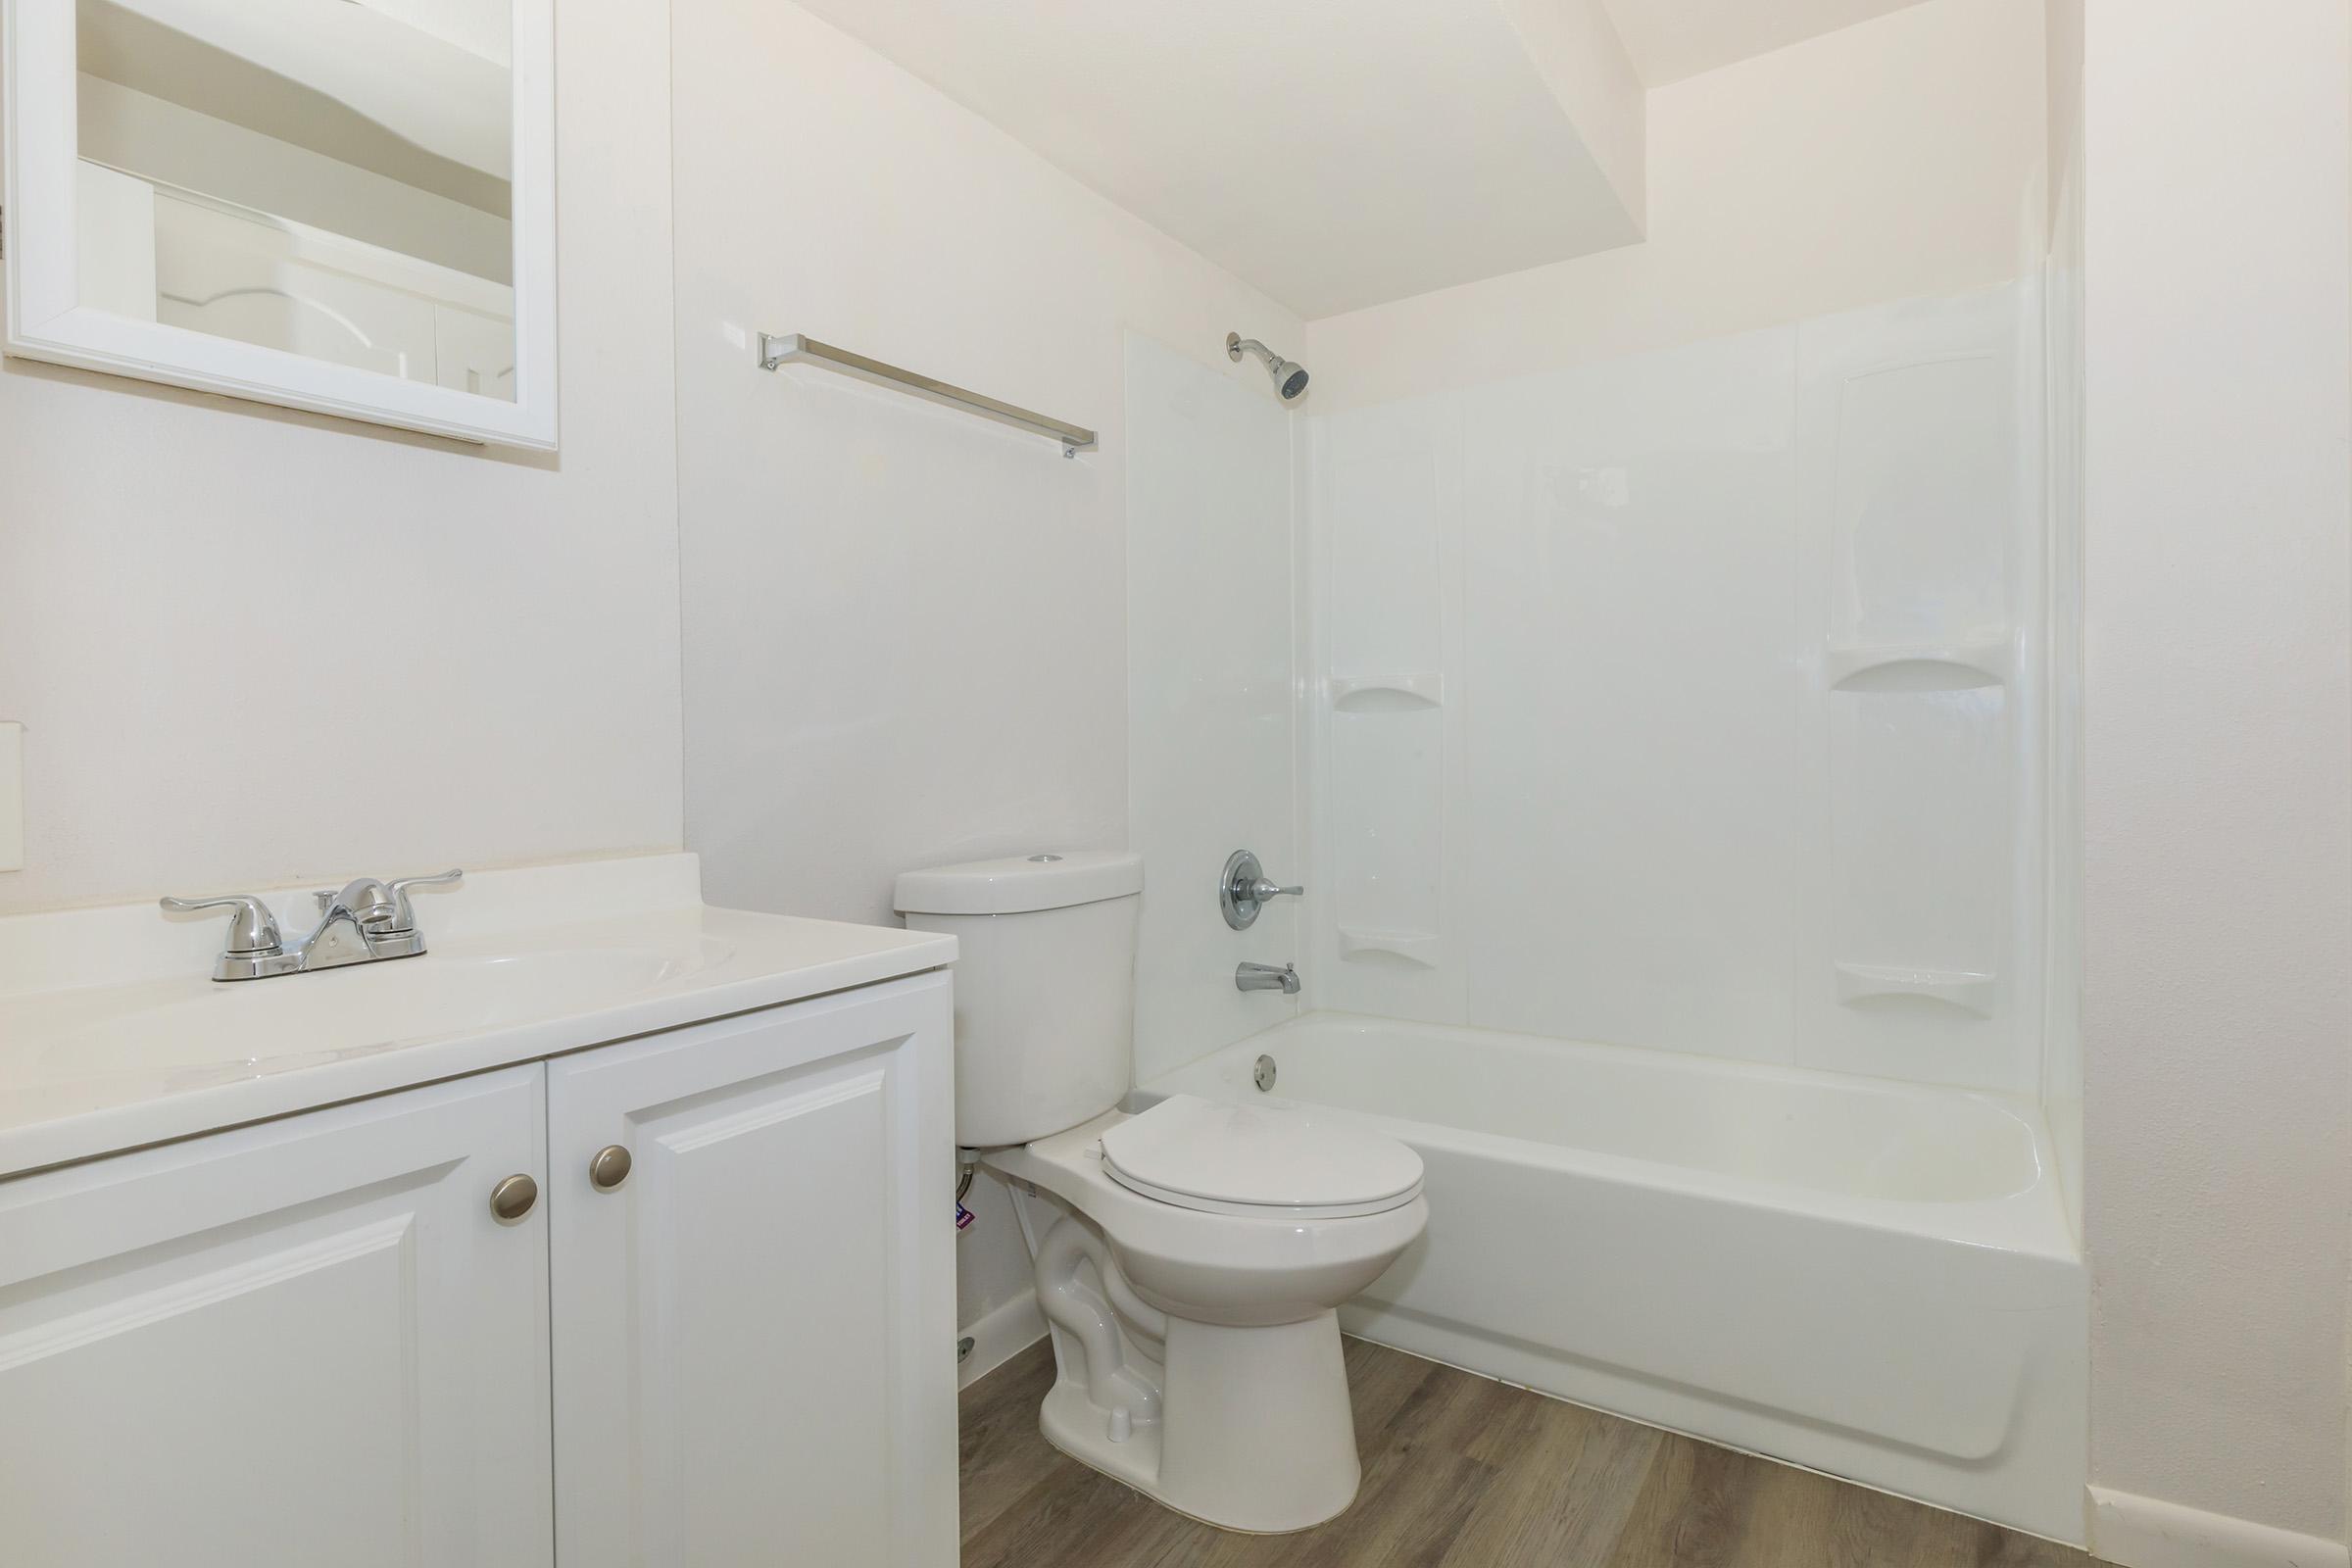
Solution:
[{"label": "white wall strip above the glossy tub surround, below the ceiling", "polygon": [[1644,244],[1312,322],[1315,409],[2018,277],[2042,52],[2042,0],[1926,0],[1658,87]]}]

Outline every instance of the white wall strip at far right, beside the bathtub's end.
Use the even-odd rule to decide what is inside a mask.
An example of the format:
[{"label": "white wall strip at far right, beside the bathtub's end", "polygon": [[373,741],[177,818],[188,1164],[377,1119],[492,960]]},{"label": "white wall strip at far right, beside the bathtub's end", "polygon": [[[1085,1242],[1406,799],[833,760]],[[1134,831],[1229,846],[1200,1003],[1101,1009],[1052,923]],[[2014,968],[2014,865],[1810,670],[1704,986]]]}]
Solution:
[{"label": "white wall strip at far right, beside the bathtub's end", "polygon": [[2347,56],[2343,0],[2089,5],[2091,1476],[2133,1563],[2345,1561],[2157,1556],[2133,1500],[2345,1528]]}]

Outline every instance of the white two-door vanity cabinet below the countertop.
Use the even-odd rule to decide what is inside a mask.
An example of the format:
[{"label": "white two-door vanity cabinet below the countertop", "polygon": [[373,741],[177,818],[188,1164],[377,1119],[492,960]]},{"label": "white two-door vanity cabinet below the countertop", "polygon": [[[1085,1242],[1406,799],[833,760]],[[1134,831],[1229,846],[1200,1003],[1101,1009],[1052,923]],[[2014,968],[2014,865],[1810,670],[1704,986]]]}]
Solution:
[{"label": "white two-door vanity cabinet below the countertop", "polygon": [[0,1563],[950,1568],[948,1041],[917,973],[0,1180]]}]

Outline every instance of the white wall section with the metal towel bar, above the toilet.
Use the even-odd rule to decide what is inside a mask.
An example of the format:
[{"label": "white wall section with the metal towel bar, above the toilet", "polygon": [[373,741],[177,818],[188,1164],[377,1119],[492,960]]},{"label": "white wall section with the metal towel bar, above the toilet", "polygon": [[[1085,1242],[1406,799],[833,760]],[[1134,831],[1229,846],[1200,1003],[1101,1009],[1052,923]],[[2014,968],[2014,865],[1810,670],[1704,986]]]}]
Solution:
[{"label": "white wall section with the metal towel bar, above the toilet", "polygon": [[[1265,395],[1225,331],[1296,343],[1298,322],[800,7],[680,7],[675,85],[687,839],[708,896],[889,919],[906,867],[1124,844],[1124,334]],[[1068,461],[818,369],[767,374],[760,329],[1103,447]],[[1214,872],[1148,865],[1145,896]],[[1028,1288],[993,1199],[962,1248],[967,1324]]]}]

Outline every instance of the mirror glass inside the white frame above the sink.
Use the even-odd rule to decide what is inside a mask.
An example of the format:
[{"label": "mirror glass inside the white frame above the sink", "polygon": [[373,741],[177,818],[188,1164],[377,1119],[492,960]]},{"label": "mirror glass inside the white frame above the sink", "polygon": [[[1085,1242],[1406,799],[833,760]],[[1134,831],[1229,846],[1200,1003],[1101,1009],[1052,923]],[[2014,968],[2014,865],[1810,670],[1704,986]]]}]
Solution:
[{"label": "mirror glass inside the white frame above the sink", "polygon": [[508,0],[78,0],[80,303],[515,400]]}]

